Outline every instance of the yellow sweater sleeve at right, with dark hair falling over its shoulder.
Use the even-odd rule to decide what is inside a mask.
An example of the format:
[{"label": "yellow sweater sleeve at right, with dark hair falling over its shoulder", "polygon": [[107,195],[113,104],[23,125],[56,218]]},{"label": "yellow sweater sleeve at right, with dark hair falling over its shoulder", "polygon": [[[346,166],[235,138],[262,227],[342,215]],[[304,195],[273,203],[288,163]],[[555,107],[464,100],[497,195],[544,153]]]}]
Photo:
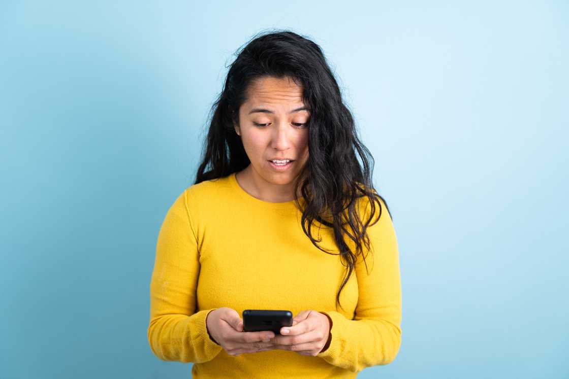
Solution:
[{"label": "yellow sweater sleeve at right, with dark hair falling over its shoulder", "polygon": [[[378,211],[376,205],[376,212]],[[373,220],[376,220],[374,215]],[[381,201],[381,217],[368,226],[373,253],[356,262],[358,302],[353,319],[335,310],[320,310],[332,320],[331,341],[319,357],[351,372],[391,363],[401,345],[401,274],[391,216]],[[364,247],[365,252],[365,247]]]}]

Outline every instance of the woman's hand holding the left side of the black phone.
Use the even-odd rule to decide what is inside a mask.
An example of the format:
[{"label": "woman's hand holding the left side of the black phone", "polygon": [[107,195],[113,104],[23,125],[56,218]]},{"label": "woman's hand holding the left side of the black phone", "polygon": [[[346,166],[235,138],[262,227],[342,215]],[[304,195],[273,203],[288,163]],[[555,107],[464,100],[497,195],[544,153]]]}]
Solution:
[{"label": "woman's hand holding the left side of the black phone", "polygon": [[236,310],[221,307],[211,311],[205,318],[209,336],[229,354],[256,353],[272,350],[271,331],[244,332],[243,322]]}]

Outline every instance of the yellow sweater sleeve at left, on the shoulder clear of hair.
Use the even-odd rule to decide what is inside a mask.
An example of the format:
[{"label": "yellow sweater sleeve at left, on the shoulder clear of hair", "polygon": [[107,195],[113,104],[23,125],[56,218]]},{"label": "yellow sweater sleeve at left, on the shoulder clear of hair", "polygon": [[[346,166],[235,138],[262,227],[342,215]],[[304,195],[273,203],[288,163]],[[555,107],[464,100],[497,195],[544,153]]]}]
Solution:
[{"label": "yellow sweater sleeve at left, on the shoulder clear of hair", "polygon": [[188,189],[179,195],[158,234],[148,341],[161,360],[202,363],[215,358],[222,347],[211,339],[205,323],[213,309],[196,312],[200,263],[188,196]]}]

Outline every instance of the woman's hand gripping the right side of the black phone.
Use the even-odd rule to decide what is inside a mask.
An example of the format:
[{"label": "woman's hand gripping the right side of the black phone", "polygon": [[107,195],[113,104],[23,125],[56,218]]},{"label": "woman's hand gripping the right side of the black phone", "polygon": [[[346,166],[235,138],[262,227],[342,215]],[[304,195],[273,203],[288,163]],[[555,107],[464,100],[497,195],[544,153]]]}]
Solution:
[{"label": "woman's hand gripping the right side of the black phone", "polygon": [[292,326],[282,327],[281,334],[271,339],[274,345],[268,349],[290,350],[301,355],[317,356],[330,344],[331,327],[332,323],[327,315],[315,310],[302,311],[292,319]]}]

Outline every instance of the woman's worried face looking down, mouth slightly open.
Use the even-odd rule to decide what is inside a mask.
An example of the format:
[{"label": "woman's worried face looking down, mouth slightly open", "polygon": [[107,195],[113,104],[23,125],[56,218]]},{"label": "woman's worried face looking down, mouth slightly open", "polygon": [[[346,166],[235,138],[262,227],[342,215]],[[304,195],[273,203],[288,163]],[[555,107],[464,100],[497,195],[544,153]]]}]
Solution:
[{"label": "woman's worried face looking down, mouth slightly open", "polygon": [[[271,184],[293,184],[308,161],[309,111],[302,87],[290,78],[263,77],[248,89],[247,101],[239,109],[239,125],[253,174]],[[289,159],[285,166],[272,160]]]}]

